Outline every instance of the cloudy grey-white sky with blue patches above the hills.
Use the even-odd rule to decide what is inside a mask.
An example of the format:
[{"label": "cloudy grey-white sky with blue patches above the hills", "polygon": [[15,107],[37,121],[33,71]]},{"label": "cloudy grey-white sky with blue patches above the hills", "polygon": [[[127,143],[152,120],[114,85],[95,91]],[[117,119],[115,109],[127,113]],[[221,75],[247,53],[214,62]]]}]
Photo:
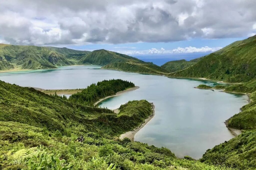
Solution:
[{"label": "cloudy grey-white sky with blue patches above the hills", "polygon": [[255,35],[255,9],[255,0],[7,0],[0,43],[198,56]]}]

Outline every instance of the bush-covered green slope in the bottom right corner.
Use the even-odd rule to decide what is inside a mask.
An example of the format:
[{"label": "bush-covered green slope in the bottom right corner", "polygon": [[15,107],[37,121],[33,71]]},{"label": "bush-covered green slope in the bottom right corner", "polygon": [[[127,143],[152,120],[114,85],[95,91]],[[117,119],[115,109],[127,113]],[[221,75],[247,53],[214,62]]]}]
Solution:
[{"label": "bush-covered green slope in the bottom right corner", "polygon": [[207,150],[201,162],[213,165],[224,165],[236,169],[256,168],[256,131],[244,132],[241,135]]}]

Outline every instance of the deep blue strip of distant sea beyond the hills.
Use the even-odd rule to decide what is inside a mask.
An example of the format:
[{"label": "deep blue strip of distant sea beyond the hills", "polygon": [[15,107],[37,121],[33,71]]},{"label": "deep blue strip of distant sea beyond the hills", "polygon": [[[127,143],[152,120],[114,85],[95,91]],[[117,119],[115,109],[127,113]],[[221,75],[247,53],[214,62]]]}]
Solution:
[{"label": "deep blue strip of distant sea beyond the hills", "polygon": [[158,66],[162,66],[168,61],[182,60],[187,61],[208,55],[209,53],[181,53],[181,54],[151,54],[151,55],[133,55],[138,59],[141,59],[146,62],[153,62]]}]

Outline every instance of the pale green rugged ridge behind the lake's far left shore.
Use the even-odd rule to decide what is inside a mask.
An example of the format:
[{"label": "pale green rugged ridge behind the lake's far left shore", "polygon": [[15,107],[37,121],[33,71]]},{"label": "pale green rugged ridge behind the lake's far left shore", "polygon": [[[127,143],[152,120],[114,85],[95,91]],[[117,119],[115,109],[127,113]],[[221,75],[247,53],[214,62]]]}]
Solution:
[{"label": "pale green rugged ridge behind the lake's far left shore", "polygon": [[89,51],[68,48],[37,47],[0,44],[0,70],[49,69],[75,64],[73,56],[85,55]]}]

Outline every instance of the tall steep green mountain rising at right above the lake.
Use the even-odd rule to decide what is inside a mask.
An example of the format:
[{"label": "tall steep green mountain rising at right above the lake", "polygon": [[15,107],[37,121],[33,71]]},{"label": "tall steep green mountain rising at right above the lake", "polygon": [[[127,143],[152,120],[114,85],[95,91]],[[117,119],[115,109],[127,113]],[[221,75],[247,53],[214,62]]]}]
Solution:
[{"label": "tall steep green mountain rising at right above the lake", "polygon": [[256,76],[256,35],[236,41],[219,51],[199,58],[185,70],[170,77],[205,77],[227,82],[247,82]]}]

